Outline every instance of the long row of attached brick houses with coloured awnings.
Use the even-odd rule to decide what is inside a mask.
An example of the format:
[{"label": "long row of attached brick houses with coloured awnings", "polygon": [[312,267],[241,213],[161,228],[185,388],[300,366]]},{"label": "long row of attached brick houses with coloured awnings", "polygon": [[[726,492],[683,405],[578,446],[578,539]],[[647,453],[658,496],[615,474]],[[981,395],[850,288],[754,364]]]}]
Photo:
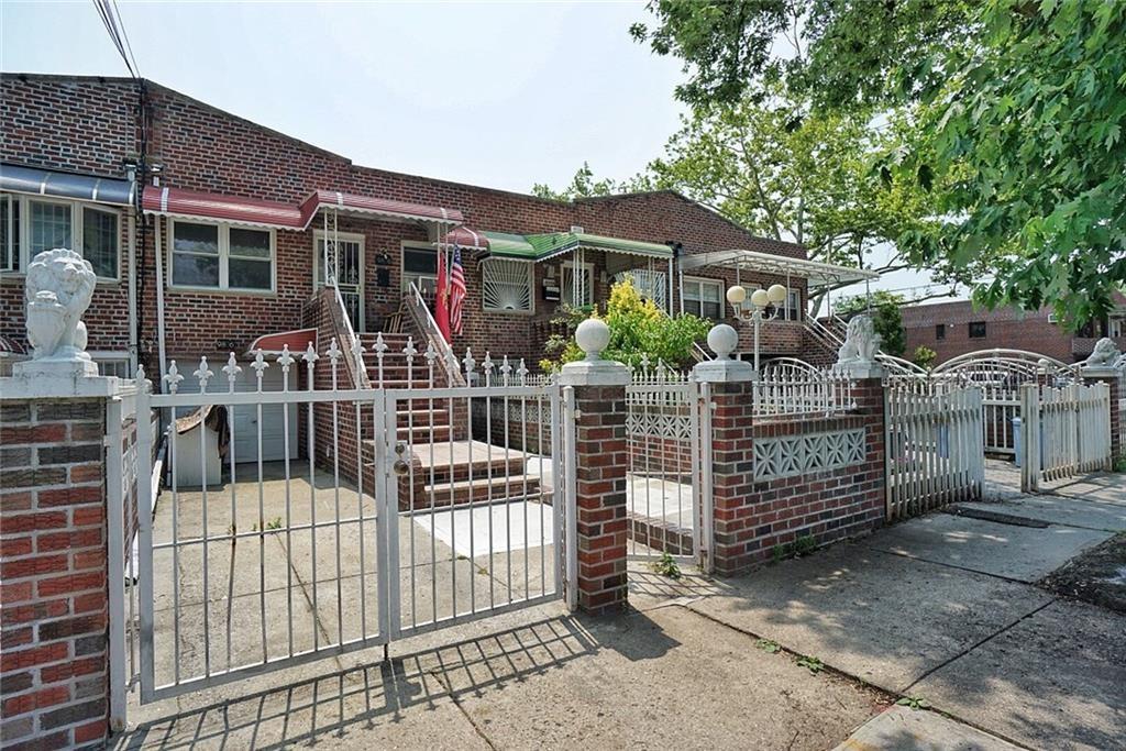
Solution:
[{"label": "long row of attached brick houses with coloured awnings", "polygon": [[325,231],[361,332],[394,320],[408,280],[430,288],[437,249],[457,243],[467,298],[454,348],[534,365],[557,301],[602,302],[624,272],[674,314],[730,315],[730,259],[679,266],[742,249],[744,285],[792,289],[763,355],[807,345],[806,279],[792,272],[804,250],[672,191],[561,203],[358,167],[149,81],[3,74],[0,93],[0,337],[23,339],[28,260],[70,244],[98,265],[89,349],[111,374],[137,361],[157,372],[161,345],[167,365],[244,356],[258,337],[298,329]]}]

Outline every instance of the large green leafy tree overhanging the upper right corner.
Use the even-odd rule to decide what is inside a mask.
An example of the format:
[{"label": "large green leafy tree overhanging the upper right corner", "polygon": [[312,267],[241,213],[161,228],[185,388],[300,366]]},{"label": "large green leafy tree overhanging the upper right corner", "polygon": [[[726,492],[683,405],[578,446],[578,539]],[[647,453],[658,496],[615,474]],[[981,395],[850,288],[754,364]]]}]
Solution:
[{"label": "large green leafy tree overhanging the upper right corner", "polygon": [[[1054,303],[1072,325],[1126,281],[1126,3],[1102,0],[654,0],[635,38],[685,61],[695,105],[783,82],[819,110],[909,108],[885,180],[933,193],[919,265],[992,280],[989,305]],[[789,39],[790,50],[776,44]]]}]

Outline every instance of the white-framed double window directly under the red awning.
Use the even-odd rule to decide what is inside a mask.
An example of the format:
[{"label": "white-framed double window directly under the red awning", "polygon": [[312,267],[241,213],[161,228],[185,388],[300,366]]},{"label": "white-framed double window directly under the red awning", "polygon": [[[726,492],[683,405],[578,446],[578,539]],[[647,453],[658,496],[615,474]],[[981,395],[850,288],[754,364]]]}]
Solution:
[{"label": "white-framed double window directly under the red awning", "polygon": [[169,285],[274,289],[274,232],[173,221]]}]

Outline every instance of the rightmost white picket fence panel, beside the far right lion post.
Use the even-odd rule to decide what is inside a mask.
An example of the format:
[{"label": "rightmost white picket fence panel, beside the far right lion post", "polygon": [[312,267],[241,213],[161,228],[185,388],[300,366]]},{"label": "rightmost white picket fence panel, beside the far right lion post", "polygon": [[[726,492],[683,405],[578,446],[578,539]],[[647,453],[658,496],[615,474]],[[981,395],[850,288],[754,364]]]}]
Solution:
[{"label": "rightmost white picket fence panel, beside the far right lion post", "polygon": [[1111,468],[1110,387],[1105,383],[1020,390],[1020,486]]}]

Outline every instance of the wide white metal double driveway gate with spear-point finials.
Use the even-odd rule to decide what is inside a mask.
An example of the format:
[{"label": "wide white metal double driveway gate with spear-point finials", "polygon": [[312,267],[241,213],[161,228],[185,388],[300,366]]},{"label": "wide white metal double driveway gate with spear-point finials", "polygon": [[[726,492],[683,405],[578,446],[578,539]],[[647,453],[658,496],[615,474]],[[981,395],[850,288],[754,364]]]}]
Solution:
[{"label": "wide white metal double driveway gate with spear-point finials", "polygon": [[[574,483],[566,482],[574,468],[564,461],[574,456],[573,419],[564,414],[569,399],[573,410],[569,390],[526,385],[522,365],[507,360],[493,385],[488,357],[477,378],[468,354],[465,381],[483,385],[436,387],[434,350],[419,355],[408,340],[399,355],[385,364],[378,352],[382,388],[338,388],[339,360],[349,355],[333,342],[321,356],[331,359],[329,388],[318,388],[323,373],[314,376],[321,357],[310,350],[298,363],[286,350],[272,361],[259,354],[248,366],[256,375],[280,369],[280,391],[262,391],[260,378],[258,390],[236,391],[241,366],[233,355],[217,377],[200,361],[193,374],[197,393],[180,391],[175,361],[168,393],[140,390],[138,415],[153,410],[164,424],[202,418],[167,433],[160,503],[150,483],[137,483],[138,591],[132,596],[140,663],[133,678],[142,701],[387,645],[560,598],[565,589],[574,601]],[[364,367],[358,341],[350,356]],[[304,385],[295,383],[298,368]],[[489,417],[503,408],[504,420],[471,420],[477,402]],[[257,454],[238,455],[232,447],[245,441],[230,436],[238,430],[231,409],[277,405],[296,405],[304,456],[289,459],[287,446],[286,458],[263,461],[260,419]],[[510,419],[512,406],[517,419]],[[526,450],[533,409],[543,441],[536,452]],[[288,441],[291,410],[282,413]],[[227,450],[220,465],[223,428]],[[519,446],[518,436],[525,439]],[[155,439],[150,422],[138,420],[142,479],[152,474]],[[549,456],[538,450],[547,444]]]}]

